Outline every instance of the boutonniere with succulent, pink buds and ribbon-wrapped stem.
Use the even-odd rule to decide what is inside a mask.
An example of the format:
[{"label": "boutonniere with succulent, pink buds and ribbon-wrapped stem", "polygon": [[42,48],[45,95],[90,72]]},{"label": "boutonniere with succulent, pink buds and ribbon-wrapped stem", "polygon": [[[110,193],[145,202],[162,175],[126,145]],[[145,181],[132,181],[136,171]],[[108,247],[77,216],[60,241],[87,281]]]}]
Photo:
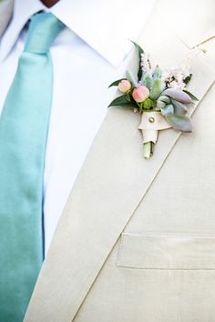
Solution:
[{"label": "boutonniere with succulent, pink buds and ribbon-wrapped stem", "polygon": [[110,85],[118,86],[122,95],[109,106],[131,108],[141,115],[138,129],[143,135],[143,156],[148,159],[153,155],[159,130],[173,127],[179,132],[192,131],[189,105],[197,97],[187,90],[192,76],[189,60],[162,71],[159,65],[153,68],[149,56],[138,44],[134,45],[138,50],[138,73],[127,71],[125,78]]}]

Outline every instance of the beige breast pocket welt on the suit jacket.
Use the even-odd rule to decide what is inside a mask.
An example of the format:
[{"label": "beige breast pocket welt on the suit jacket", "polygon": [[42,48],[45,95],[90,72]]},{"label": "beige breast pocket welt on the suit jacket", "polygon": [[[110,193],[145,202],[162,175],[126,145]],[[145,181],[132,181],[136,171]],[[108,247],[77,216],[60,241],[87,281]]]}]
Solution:
[{"label": "beige breast pocket welt on the suit jacket", "polygon": [[123,233],[118,267],[214,270],[215,236],[159,236]]}]

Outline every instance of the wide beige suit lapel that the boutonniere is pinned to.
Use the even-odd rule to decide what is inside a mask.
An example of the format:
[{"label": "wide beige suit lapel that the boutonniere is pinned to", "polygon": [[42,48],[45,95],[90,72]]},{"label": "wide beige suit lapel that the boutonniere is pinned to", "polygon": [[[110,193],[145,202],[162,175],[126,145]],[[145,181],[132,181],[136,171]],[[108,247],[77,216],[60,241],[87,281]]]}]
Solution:
[{"label": "wide beige suit lapel that the boutonniere is pinned to", "polygon": [[[189,54],[175,35],[169,35],[172,52],[150,41],[147,32],[141,34],[139,43],[158,62],[161,58],[163,66]],[[215,75],[201,56],[193,62],[192,73],[190,90],[201,100]],[[139,116],[132,111],[107,111],[57,226],[26,321],[40,317],[41,322],[50,318],[66,322],[76,316],[118,236],[179,139],[173,129],[162,131],[154,156],[145,160],[138,123]]]}]

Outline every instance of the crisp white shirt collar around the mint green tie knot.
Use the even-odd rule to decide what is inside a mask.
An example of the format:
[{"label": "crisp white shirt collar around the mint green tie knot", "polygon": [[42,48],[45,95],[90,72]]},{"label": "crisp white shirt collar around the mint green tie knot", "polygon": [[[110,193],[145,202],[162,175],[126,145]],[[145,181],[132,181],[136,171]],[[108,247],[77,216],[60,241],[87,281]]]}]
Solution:
[{"label": "crisp white shirt collar around the mint green tie knot", "polygon": [[[147,22],[154,1],[60,0],[48,10],[111,65],[118,66],[132,48],[129,39],[136,40]],[[142,7],[144,12],[139,10]],[[40,10],[47,8],[39,0],[15,0],[13,18],[1,42],[1,60],[10,54],[30,16]]]}]

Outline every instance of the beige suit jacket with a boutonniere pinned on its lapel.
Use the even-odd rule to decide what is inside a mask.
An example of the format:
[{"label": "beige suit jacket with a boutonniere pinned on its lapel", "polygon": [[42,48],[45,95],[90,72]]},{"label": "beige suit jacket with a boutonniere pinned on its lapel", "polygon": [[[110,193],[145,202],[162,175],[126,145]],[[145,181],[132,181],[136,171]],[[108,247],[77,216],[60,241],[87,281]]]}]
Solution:
[{"label": "beige suit jacket with a boutonniere pinned on its lapel", "polygon": [[108,109],[26,322],[215,321],[214,13],[214,0],[155,5],[138,39],[154,61],[177,65],[193,46],[208,49],[191,65],[193,133],[161,131],[145,160],[139,115]]}]

